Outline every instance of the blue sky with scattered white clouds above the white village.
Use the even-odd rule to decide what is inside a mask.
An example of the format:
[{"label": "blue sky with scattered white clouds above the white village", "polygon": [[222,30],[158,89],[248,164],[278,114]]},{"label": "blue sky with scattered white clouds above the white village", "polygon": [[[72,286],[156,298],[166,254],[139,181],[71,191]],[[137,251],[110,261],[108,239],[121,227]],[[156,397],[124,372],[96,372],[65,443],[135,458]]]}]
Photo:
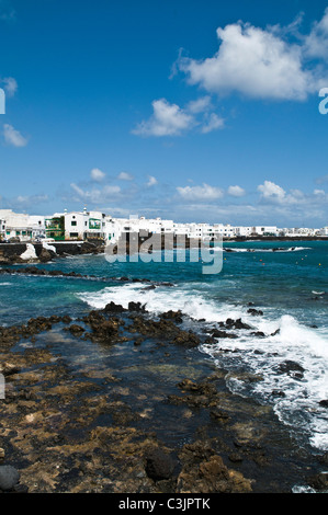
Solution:
[{"label": "blue sky with scattered white clouds above the white village", "polygon": [[0,0],[0,208],[328,225],[328,0]]}]

